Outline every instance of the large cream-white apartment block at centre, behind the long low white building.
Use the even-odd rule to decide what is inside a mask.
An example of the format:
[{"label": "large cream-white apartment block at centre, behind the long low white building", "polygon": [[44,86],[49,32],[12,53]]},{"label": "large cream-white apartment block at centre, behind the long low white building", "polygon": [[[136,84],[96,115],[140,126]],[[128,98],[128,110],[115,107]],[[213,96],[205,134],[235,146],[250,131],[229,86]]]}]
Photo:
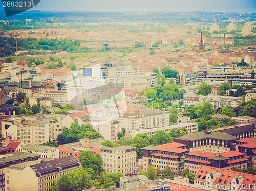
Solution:
[{"label": "large cream-white apartment block at centre, behind the long low white building", "polygon": [[126,129],[126,136],[132,137],[132,131],[169,125],[169,112],[148,108],[134,113],[125,112],[120,116],[121,128]]}]

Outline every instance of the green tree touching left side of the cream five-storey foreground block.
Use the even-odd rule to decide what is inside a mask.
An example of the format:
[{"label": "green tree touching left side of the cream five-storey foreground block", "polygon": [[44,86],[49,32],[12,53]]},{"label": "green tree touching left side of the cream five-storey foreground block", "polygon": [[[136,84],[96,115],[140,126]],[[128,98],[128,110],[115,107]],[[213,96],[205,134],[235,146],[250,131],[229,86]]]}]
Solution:
[{"label": "green tree touching left side of the cream five-storey foreground block", "polygon": [[81,153],[79,154],[79,161],[81,162],[83,168],[91,168],[98,175],[104,171],[104,169],[102,168],[103,160],[101,156],[99,154],[96,154],[95,156],[92,151],[81,151]]}]

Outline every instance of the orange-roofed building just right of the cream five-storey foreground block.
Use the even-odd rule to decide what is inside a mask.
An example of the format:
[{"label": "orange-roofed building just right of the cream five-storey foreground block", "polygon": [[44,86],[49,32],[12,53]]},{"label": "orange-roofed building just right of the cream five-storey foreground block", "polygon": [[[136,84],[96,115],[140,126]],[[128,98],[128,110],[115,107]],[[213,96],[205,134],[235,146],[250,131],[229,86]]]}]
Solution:
[{"label": "orange-roofed building just right of the cream five-storey foreground block", "polygon": [[147,170],[152,163],[155,168],[165,169],[168,165],[170,170],[184,171],[183,156],[188,153],[187,146],[178,142],[171,142],[158,146],[147,146],[142,148],[142,169]]}]

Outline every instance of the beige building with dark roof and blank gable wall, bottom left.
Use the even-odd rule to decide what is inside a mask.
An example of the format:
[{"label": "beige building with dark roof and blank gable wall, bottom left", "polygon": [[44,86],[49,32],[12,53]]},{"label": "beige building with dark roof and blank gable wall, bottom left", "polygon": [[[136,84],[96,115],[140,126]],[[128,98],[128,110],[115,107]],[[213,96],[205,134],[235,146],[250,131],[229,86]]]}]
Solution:
[{"label": "beige building with dark roof and blank gable wall, bottom left", "polygon": [[44,161],[23,168],[7,168],[5,180],[8,183],[5,185],[5,190],[46,191],[60,176],[79,168],[81,168],[81,163],[74,156]]}]

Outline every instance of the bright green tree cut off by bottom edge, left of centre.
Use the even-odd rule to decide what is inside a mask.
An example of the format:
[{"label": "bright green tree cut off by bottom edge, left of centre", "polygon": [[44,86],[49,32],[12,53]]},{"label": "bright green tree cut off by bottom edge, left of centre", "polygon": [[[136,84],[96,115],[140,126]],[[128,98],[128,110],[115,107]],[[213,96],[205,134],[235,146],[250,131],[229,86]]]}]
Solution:
[{"label": "bright green tree cut off by bottom edge, left of centre", "polygon": [[92,187],[91,175],[84,170],[73,171],[60,176],[57,181],[58,191],[81,191]]}]

